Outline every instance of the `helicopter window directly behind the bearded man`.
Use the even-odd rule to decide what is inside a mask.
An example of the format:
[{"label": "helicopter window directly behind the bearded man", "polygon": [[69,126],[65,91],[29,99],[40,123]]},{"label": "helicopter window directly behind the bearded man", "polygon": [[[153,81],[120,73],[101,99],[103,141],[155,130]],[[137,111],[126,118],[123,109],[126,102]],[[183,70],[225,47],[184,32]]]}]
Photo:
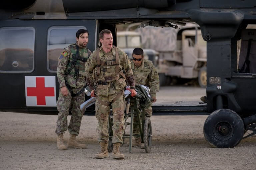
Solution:
[{"label": "helicopter window directly behind the bearded man", "polygon": [[56,72],[58,58],[64,48],[76,43],[76,32],[86,29],[84,26],[54,26],[48,30],[47,38],[47,69]]}]

